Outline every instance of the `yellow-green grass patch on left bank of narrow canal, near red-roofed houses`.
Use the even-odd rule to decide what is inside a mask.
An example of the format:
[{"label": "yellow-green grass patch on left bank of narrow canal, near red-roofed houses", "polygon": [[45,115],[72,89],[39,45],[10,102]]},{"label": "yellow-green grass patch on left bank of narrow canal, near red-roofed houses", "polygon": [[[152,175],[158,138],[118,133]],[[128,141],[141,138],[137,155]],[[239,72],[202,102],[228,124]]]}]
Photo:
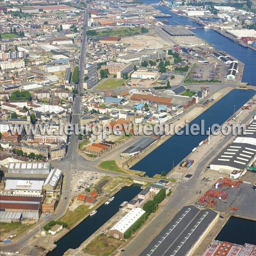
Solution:
[{"label": "yellow-green grass patch on left bank of narrow canal, near red-roofed houses", "polygon": [[73,225],[76,224],[77,221],[84,218],[89,212],[92,211],[92,209],[89,209],[89,205],[81,204],[79,205],[75,210],[69,211],[65,213],[64,216],[62,216],[59,221],[64,221],[67,223],[67,227],[73,227]]}]

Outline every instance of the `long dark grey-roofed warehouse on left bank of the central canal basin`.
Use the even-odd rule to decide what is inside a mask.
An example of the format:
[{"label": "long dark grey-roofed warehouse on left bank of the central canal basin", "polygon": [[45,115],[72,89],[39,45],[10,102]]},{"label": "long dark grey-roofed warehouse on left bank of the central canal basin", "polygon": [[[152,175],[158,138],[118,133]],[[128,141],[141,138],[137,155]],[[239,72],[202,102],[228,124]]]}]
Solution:
[{"label": "long dark grey-roofed warehouse on left bank of the central canal basin", "polygon": [[122,151],[121,156],[123,157],[132,157],[136,154],[140,154],[145,151],[149,146],[157,141],[156,138],[153,137],[144,137],[140,139],[137,143],[131,145],[131,147],[126,148],[125,151]]}]

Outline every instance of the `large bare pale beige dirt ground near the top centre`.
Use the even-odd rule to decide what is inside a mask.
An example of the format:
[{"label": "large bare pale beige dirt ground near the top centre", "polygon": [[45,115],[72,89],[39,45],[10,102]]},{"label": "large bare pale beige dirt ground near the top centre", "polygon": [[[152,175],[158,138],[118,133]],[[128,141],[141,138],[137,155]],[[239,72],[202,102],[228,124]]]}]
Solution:
[{"label": "large bare pale beige dirt ground near the top centre", "polygon": [[127,49],[163,48],[170,45],[170,42],[163,40],[155,32],[122,38],[121,42],[130,44]]}]

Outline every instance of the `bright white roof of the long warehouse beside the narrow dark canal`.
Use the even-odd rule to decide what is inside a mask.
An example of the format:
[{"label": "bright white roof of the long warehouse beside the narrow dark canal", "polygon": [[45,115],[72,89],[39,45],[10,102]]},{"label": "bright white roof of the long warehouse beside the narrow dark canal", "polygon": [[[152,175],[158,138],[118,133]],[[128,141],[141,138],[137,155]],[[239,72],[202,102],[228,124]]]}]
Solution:
[{"label": "bright white roof of the long warehouse beside the narrow dark canal", "polygon": [[145,211],[143,209],[134,208],[120,221],[118,221],[110,230],[118,230],[121,233],[125,233],[144,213]]}]

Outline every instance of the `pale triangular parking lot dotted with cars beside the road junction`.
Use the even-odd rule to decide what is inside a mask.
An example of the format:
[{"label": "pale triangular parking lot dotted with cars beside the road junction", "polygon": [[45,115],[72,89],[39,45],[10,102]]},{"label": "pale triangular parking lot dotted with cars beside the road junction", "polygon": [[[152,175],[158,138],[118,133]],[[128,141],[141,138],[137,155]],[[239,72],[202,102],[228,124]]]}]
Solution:
[{"label": "pale triangular parking lot dotted with cars beside the road junction", "polygon": [[89,186],[99,181],[103,174],[97,172],[73,171],[71,178],[72,192],[84,192]]}]

